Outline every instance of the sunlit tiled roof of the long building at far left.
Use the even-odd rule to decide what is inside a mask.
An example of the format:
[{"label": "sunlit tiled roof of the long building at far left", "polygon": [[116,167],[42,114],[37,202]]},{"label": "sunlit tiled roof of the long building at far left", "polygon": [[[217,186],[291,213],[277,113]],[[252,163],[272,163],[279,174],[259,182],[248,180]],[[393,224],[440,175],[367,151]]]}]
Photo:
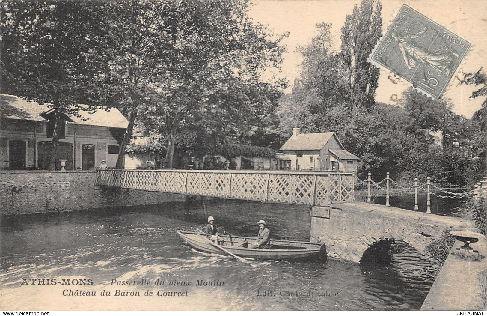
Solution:
[{"label": "sunlit tiled roof of the long building at far left", "polygon": [[[15,95],[0,94],[1,117],[7,117],[17,120],[29,120],[46,122],[40,114],[51,110],[47,105],[40,105],[34,101],[28,101]],[[75,124],[104,126],[126,129],[129,121],[117,109],[108,111],[99,109],[93,111],[78,111],[82,119],[71,116]]]}]

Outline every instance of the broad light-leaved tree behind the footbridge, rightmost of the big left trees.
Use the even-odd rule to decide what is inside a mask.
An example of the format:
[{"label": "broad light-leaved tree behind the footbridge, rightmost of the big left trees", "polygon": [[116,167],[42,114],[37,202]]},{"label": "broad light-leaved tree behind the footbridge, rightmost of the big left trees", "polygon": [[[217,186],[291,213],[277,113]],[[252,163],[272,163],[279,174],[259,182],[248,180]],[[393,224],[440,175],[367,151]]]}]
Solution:
[{"label": "broad light-leaved tree behind the footbridge, rightmost of the big left trees", "polygon": [[[279,69],[282,37],[247,15],[247,0],[181,1],[168,5],[165,75],[154,82],[153,102],[143,113],[148,133],[167,135],[167,167],[179,140],[192,148],[245,138],[256,117],[276,98],[280,80],[262,72]],[[192,133],[196,136],[188,138]],[[199,137],[199,138],[198,138]],[[204,141],[195,144],[197,139]],[[192,144],[191,144],[192,143]]]}]

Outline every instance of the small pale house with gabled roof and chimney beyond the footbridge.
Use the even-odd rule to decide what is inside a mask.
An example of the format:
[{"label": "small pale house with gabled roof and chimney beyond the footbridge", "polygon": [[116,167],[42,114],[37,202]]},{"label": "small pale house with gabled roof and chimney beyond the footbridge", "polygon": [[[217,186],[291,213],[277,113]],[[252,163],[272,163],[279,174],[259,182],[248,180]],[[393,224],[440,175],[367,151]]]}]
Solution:
[{"label": "small pale house with gabled roof and chimney beyond the footbridge", "polygon": [[301,134],[294,128],[280,152],[287,158],[280,158],[278,164],[288,170],[356,172],[360,161],[343,147],[335,132]]}]

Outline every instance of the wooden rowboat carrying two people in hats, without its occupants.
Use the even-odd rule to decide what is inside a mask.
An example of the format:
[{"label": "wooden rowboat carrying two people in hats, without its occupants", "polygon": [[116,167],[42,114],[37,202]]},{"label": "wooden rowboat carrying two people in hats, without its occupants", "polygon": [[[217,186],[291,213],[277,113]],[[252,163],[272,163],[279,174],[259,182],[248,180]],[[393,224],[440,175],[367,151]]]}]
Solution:
[{"label": "wooden rowboat carrying two people in hats, without its occupants", "polygon": [[[225,255],[225,252],[210,242],[205,235],[196,232],[180,231],[177,233],[185,242],[193,248],[214,254]],[[270,259],[270,260],[298,260],[312,257],[326,260],[326,249],[324,245],[313,242],[297,242],[288,240],[271,239],[270,249],[254,249],[250,245],[255,242],[255,237],[243,237],[233,235],[218,235],[223,241],[219,246],[225,250],[241,257]]]}]

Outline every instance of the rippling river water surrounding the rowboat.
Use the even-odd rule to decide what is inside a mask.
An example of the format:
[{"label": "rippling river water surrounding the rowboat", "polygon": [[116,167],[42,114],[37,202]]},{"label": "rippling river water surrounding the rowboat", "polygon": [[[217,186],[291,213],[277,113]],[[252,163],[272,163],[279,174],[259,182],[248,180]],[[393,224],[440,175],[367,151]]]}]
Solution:
[{"label": "rippling river water surrounding the rowboat", "polygon": [[[257,266],[253,267],[232,257],[195,251],[178,237],[176,230],[199,229],[209,215],[216,218],[221,233],[253,236],[258,230],[257,221],[265,219],[272,238],[310,238],[308,207],[246,201],[193,200],[150,207],[2,217],[3,307],[417,310],[432,284],[431,271],[424,264],[417,264],[421,261],[419,255],[407,246],[399,247],[402,250],[392,254],[391,262],[380,266],[336,260],[254,260]],[[23,279],[56,279],[56,284],[31,285],[30,280],[29,284],[22,284]],[[88,279],[94,284],[57,284],[61,279]],[[151,284],[112,285],[112,279],[145,279]],[[154,285],[158,279],[165,280],[165,285]],[[219,285],[198,286],[198,280],[216,280]],[[171,281],[186,285],[170,285]],[[66,296],[65,290],[95,291],[96,297]],[[110,291],[111,297],[101,297],[103,290]],[[141,297],[115,297],[116,290],[139,292]],[[153,297],[144,296],[147,290]],[[181,291],[187,297],[157,296],[170,291]]]}]

